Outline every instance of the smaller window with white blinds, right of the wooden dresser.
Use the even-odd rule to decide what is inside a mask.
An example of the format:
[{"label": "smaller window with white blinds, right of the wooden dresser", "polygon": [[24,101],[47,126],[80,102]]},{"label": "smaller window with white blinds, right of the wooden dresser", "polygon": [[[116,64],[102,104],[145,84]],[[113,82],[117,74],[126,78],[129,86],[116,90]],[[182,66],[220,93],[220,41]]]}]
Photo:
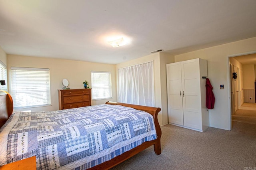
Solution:
[{"label": "smaller window with white blinds, right of the wooden dresser", "polygon": [[92,100],[112,98],[111,73],[91,71]]}]

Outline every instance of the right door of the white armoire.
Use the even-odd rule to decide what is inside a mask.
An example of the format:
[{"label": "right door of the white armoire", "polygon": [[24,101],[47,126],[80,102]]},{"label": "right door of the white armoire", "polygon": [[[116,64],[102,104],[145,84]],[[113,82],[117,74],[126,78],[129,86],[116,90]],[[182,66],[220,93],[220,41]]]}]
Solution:
[{"label": "right door of the white armoire", "polygon": [[197,60],[182,61],[182,97],[184,126],[200,129],[200,68]]}]

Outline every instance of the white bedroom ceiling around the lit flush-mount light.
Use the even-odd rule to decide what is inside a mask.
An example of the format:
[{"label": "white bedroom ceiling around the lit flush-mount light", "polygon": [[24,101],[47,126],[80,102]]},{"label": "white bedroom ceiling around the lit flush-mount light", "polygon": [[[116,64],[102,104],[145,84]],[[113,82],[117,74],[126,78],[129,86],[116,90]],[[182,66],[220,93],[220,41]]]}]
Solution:
[{"label": "white bedroom ceiling around the lit flush-mount light", "polygon": [[0,0],[7,54],[117,64],[252,37],[256,0]]}]

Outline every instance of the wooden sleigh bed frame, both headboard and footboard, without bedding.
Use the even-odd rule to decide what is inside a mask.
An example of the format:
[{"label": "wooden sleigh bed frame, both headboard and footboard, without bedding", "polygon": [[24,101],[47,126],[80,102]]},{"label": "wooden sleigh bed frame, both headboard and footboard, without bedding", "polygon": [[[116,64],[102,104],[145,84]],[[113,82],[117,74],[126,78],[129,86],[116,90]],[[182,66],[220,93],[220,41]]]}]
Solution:
[{"label": "wooden sleigh bed frame, both headboard and footboard, without bedding", "polygon": [[[162,131],[161,131],[160,125],[158,123],[158,119],[157,119],[158,113],[161,111],[161,109],[159,107],[158,108],[157,107],[147,107],[147,106],[126,104],[126,103],[117,103],[117,102],[112,102],[112,101],[108,101],[108,102],[106,102],[106,104],[132,107],[134,109],[150,113],[154,117],[154,124],[156,127],[157,138],[155,140],[144,142],[141,145],[133,148],[132,150],[124,152],[123,154],[116,156],[115,158],[113,158],[109,161],[103,162],[102,164],[99,164],[97,166],[90,168],[90,170],[110,169],[152,145],[154,145],[154,152],[157,155],[161,154],[160,138],[162,135]],[[0,91],[0,128],[4,125],[4,123],[6,123],[6,121],[10,117],[10,115],[12,115],[12,112],[13,112],[13,101],[12,101],[11,95],[7,92]]]}]

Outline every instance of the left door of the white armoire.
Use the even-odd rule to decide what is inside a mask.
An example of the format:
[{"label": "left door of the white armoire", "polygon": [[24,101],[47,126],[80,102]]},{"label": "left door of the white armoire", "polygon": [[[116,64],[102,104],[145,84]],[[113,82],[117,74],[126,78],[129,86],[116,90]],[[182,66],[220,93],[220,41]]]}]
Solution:
[{"label": "left door of the white armoire", "polygon": [[169,123],[183,124],[181,63],[166,65]]}]

